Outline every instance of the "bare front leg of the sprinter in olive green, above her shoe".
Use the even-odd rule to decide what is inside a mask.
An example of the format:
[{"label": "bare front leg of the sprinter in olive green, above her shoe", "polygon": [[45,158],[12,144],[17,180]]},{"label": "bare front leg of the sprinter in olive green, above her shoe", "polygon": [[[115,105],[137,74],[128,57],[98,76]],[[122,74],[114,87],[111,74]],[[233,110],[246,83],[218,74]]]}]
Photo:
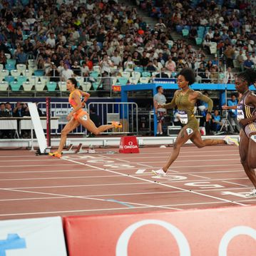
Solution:
[{"label": "bare front leg of the sprinter in olive green, above her shoe", "polygon": [[163,166],[163,171],[166,173],[170,165],[178,158],[178,155],[180,153],[180,147],[188,141],[191,136],[193,136],[193,130],[191,128],[188,128],[188,126],[184,126],[180,133],[178,134],[175,143],[173,145],[173,152],[170,155],[170,158],[168,158],[168,161]]}]

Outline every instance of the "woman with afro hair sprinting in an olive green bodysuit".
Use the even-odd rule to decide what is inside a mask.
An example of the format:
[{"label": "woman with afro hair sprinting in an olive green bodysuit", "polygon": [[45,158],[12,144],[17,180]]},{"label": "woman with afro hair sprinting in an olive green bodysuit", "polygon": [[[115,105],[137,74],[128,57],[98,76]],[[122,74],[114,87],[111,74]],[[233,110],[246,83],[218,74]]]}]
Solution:
[{"label": "woman with afro hair sprinting in an olive green bodysuit", "polygon": [[175,91],[173,100],[163,106],[158,106],[159,108],[175,108],[178,107],[178,113],[180,115],[180,122],[183,128],[178,134],[175,144],[173,146],[173,153],[170,155],[167,163],[159,170],[152,170],[155,175],[165,176],[170,165],[178,158],[180,153],[180,147],[185,144],[188,140],[191,140],[198,148],[203,148],[206,145],[218,145],[218,144],[237,144],[236,140],[233,140],[229,136],[224,139],[206,139],[202,140],[200,131],[198,130],[198,121],[194,116],[193,110],[196,101],[205,101],[208,103],[208,118],[213,110],[213,101],[207,96],[200,93],[200,91],[194,91],[189,88],[191,84],[195,82],[195,73],[190,68],[183,68],[178,76],[178,87],[180,90]]}]

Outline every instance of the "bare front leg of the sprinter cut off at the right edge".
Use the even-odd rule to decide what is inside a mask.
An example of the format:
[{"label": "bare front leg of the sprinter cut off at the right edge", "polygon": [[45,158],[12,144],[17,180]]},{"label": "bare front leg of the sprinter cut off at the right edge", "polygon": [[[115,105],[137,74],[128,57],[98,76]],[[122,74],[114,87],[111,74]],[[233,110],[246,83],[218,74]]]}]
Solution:
[{"label": "bare front leg of the sprinter cut off at the right edge", "polygon": [[239,154],[242,167],[245,170],[247,177],[250,179],[252,184],[256,188],[256,175],[255,170],[248,165],[248,153],[249,153],[249,138],[245,134],[244,130],[240,131],[240,144],[239,144]]}]

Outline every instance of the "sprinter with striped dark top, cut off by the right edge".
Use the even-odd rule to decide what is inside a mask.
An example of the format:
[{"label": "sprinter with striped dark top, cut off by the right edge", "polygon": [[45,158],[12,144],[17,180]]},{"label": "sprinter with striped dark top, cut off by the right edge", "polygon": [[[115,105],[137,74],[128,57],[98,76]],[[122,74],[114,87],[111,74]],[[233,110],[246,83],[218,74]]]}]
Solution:
[{"label": "sprinter with striped dark top, cut off by the right edge", "polygon": [[246,195],[247,198],[256,197],[256,95],[249,89],[253,83],[256,85],[256,72],[250,69],[235,78],[235,88],[242,93],[237,104],[237,120],[242,126],[239,153],[242,167],[255,187]]}]

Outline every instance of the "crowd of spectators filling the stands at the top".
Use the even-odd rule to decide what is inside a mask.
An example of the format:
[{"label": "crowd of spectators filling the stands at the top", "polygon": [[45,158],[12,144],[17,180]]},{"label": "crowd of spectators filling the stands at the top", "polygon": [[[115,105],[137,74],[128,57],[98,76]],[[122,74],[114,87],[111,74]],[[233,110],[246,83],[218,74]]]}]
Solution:
[{"label": "crowd of spectators filling the stands at the top", "polygon": [[[51,81],[86,77],[96,67],[100,76],[135,67],[176,76],[188,66],[200,82],[225,82],[234,61],[241,69],[254,68],[256,61],[255,16],[243,1],[232,2],[137,1],[158,19],[150,27],[136,8],[113,0],[1,1],[0,63],[6,64],[5,53],[16,63],[33,58]],[[190,39],[205,28],[202,46],[215,42],[217,57],[206,61],[203,49],[195,50],[187,39],[173,41],[177,26],[188,28]]]}]

